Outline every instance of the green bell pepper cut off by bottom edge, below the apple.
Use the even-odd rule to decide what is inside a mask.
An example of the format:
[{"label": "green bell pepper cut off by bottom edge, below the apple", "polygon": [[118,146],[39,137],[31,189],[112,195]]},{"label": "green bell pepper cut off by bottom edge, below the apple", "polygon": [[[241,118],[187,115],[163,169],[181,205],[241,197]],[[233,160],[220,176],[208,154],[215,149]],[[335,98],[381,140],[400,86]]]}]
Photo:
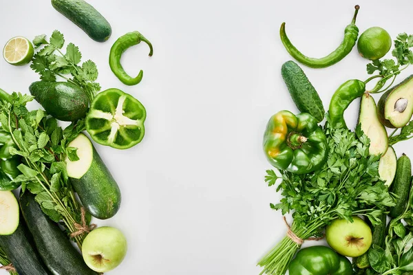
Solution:
[{"label": "green bell pepper cut off by bottom edge, below the apple", "polygon": [[290,275],[351,275],[352,264],[326,246],[311,246],[297,253],[290,263]]}]

